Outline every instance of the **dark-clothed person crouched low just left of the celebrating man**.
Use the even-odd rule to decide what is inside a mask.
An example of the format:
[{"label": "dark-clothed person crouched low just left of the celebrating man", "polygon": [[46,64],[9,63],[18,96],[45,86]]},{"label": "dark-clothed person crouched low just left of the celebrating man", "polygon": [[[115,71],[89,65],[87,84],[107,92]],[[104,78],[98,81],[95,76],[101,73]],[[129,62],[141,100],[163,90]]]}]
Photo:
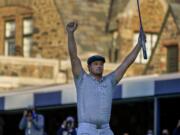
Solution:
[{"label": "dark-clothed person crouched low just left of the celebrating man", "polygon": [[57,135],[76,135],[73,117],[69,116],[66,118],[66,120],[57,131]]}]

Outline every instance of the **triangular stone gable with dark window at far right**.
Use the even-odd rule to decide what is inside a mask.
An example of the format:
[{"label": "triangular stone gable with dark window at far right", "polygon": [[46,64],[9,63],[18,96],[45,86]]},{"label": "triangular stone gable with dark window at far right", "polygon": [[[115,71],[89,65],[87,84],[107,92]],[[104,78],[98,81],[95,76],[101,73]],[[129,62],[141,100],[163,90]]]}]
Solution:
[{"label": "triangular stone gable with dark window at far right", "polygon": [[180,4],[172,3],[166,12],[153,55],[144,74],[180,71]]}]

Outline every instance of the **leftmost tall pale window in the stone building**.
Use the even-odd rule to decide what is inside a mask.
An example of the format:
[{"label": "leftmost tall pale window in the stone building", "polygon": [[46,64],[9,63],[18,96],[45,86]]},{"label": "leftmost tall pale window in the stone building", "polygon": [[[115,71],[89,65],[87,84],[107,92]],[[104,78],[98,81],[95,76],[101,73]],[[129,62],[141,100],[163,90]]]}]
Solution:
[{"label": "leftmost tall pale window in the stone building", "polygon": [[5,56],[13,56],[16,53],[16,23],[14,20],[5,22]]}]

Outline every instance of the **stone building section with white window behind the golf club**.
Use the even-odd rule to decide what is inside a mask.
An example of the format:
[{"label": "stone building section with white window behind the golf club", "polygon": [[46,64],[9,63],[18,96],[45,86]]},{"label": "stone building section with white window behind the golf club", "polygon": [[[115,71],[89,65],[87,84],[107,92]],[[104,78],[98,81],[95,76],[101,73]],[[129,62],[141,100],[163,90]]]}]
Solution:
[{"label": "stone building section with white window behind the golf club", "polygon": [[[178,1],[141,0],[140,2],[142,22],[147,40],[148,59],[144,60],[141,52],[126,75],[136,76],[180,71],[179,66],[177,66],[179,63],[177,31],[179,29],[178,23],[180,16],[177,8],[179,5]],[[137,43],[139,33],[137,1],[112,0],[111,3],[109,12],[110,21],[107,23],[107,31],[114,35],[114,44],[111,50],[113,55],[111,57],[113,57],[114,62],[119,62],[123,60],[127,52]],[[117,6],[120,3],[121,6]],[[173,5],[172,3],[175,6],[171,6]],[[169,21],[167,20],[171,20],[171,23],[168,23]],[[168,27],[168,30],[166,27]],[[174,34],[170,36],[170,33]],[[169,53],[166,52],[166,48],[168,47],[165,44],[172,43],[167,43],[168,41],[165,40],[172,40],[171,42],[175,40],[177,45],[177,49],[174,48],[174,50],[178,50],[175,52],[177,56],[172,56],[173,58],[176,57],[176,61],[174,62],[176,63],[176,65],[174,64],[176,70],[174,71],[169,71],[168,62],[166,62],[168,59],[171,59],[171,56],[167,56]],[[162,42],[164,45],[162,45]],[[168,58],[166,59],[166,57]]]}]

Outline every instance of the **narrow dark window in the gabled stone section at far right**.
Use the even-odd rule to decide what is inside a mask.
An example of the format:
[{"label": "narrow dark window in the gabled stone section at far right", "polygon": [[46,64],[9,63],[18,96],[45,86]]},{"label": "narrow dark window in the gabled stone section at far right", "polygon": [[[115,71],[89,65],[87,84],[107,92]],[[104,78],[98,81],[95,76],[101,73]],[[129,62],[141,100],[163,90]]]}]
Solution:
[{"label": "narrow dark window in the gabled stone section at far right", "polygon": [[178,45],[167,46],[167,72],[178,71]]}]

